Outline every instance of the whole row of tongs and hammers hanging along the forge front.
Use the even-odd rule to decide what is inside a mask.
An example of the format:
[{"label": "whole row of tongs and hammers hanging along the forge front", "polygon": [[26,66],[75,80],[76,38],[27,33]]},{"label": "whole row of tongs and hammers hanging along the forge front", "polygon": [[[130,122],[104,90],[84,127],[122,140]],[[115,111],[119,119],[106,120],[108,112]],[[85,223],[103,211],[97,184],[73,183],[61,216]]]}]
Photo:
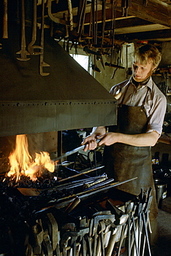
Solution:
[{"label": "whole row of tongs and hammers hanging along the forge front", "polygon": [[[48,255],[111,256],[114,245],[117,243],[117,246],[119,244],[117,256],[119,256],[124,239],[126,247],[128,245],[128,256],[143,256],[146,250],[148,250],[148,255],[151,255],[148,237],[148,232],[151,232],[149,221],[151,201],[150,188],[144,192],[141,191],[137,198],[126,202],[125,205],[116,206],[110,198],[105,201],[106,210],[97,210],[97,205],[89,205],[89,209],[94,211],[91,217],[76,216],[76,212],[68,215],[67,208],[63,214],[68,216],[69,222],[63,223],[62,226],[59,221],[60,214],[44,212],[52,226],[52,229],[46,230],[49,235],[47,250],[50,254]],[[87,213],[86,208],[85,213]],[[73,217],[77,219],[75,223]],[[43,226],[41,227],[41,232],[44,234],[45,230]],[[58,234],[55,235],[56,239],[54,240],[52,231],[54,234]],[[44,235],[39,241],[40,251],[43,241],[45,241]],[[34,242],[32,244],[33,253],[36,248]]]}]

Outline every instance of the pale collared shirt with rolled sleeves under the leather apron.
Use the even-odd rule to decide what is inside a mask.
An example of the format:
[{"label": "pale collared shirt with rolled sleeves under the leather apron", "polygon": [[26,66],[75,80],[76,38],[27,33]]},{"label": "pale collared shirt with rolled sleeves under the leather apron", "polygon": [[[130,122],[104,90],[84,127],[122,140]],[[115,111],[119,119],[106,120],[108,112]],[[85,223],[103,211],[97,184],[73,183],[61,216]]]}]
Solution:
[{"label": "pale collared shirt with rolled sleeves under the leather apron", "polygon": [[146,132],[157,131],[157,133],[161,135],[167,104],[165,95],[163,95],[157,85],[154,84],[152,77],[150,77],[147,84],[141,86],[139,89],[137,89],[131,81],[132,77],[130,77],[129,80],[125,80],[120,84],[112,86],[110,93],[116,95],[121,91],[121,97],[118,99],[119,104],[122,103],[128,106],[138,107],[143,104],[143,100],[148,90],[144,105],[148,116],[148,129]]}]

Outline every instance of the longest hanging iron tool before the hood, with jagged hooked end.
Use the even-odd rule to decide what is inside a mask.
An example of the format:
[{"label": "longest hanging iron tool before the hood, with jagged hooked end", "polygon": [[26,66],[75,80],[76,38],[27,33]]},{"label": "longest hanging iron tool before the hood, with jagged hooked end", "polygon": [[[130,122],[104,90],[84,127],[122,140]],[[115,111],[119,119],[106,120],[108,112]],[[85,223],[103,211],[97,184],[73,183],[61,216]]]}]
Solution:
[{"label": "longest hanging iron tool before the hood, with jagged hooked end", "polygon": [[43,67],[50,66],[43,60],[43,51],[44,51],[44,12],[45,12],[45,0],[42,0],[42,11],[41,11],[41,54],[39,60],[39,73],[42,76],[49,75],[50,73],[43,72]]}]

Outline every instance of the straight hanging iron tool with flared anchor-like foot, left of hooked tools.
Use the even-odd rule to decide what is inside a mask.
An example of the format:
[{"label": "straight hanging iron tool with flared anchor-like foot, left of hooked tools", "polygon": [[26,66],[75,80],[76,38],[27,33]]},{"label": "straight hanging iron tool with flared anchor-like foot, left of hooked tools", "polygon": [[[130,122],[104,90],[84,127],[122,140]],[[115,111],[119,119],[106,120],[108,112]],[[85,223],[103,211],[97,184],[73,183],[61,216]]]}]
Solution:
[{"label": "straight hanging iron tool with flared anchor-like foot, left of hooked tools", "polygon": [[28,51],[26,51],[26,32],[25,32],[25,6],[24,6],[24,0],[21,0],[21,50],[17,52],[17,54],[20,54],[21,57],[17,58],[17,60],[30,60],[30,58],[27,58],[27,55],[30,55]]}]

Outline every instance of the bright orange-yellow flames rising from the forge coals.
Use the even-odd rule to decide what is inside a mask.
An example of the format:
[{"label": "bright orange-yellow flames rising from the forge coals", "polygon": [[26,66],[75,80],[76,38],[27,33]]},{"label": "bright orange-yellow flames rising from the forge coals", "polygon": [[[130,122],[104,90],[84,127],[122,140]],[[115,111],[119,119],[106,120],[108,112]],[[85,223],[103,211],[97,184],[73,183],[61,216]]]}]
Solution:
[{"label": "bright orange-yellow flames rising from the forge coals", "polygon": [[32,159],[28,152],[28,138],[26,134],[16,136],[15,149],[10,156],[10,172],[8,176],[16,175],[18,181],[21,175],[30,176],[30,179],[36,180],[37,173],[42,174],[45,169],[54,172],[54,161],[50,159],[48,152],[36,153]]}]

